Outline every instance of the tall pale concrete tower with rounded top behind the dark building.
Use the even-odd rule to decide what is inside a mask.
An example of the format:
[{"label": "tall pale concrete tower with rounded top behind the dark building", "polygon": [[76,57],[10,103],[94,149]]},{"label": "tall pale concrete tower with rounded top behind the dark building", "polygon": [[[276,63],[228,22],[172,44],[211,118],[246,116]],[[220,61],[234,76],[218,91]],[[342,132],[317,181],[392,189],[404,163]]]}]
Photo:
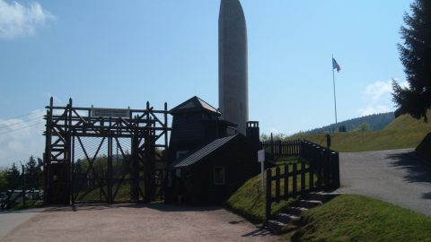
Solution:
[{"label": "tall pale concrete tower with rounded top behind the dark building", "polygon": [[218,19],[218,105],[245,135],[249,119],[247,27],[239,0],[222,0]]}]

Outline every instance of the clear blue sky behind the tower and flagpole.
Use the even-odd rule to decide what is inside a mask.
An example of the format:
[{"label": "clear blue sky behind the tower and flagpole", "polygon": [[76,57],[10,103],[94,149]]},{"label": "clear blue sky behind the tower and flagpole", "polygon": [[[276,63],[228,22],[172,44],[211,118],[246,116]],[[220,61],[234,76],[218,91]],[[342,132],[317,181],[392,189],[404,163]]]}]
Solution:
[{"label": "clear blue sky behind the tower and flagpole", "polygon": [[[411,3],[242,0],[250,119],[267,134],[333,123],[332,54],[342,68],[339,121],[393,110]],[[0,0],[0,166],[41,156],[49,96],[58,105],[71,97],[83,107],[173,108],[198,95],[217,107],[219,4]]]}]

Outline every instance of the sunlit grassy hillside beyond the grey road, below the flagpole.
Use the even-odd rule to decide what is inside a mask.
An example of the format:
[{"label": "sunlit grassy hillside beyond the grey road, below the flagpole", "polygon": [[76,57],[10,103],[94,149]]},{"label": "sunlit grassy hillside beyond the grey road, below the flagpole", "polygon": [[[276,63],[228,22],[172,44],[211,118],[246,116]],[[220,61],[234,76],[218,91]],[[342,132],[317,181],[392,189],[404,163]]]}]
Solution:
[{"label": "sunlit grassy hillside beyond the grey road, below the flagpole", "polygon": [[[428,111],[431,117],[431,111]],[[332,149],[336,151],[381,151],[401,148],[413,148],[431,132],[431,122],[427,124],[408,115],[395,119],[381,131],[348,132],[331,134]],[[302,138],[326,146],[324,134],[296,134]]]}]

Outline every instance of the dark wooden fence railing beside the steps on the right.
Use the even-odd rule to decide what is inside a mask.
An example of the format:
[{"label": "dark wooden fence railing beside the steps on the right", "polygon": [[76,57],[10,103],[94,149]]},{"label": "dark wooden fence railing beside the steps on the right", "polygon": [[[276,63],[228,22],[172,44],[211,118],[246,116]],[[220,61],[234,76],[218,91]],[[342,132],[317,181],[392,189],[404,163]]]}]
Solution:
[{"label": "dark wooden fence railing beside the steps on the right", "polygon": [[275,174],[272,169],[266,170],[267,219],[271,215],[271,203],[339,187],[339,152],[301,141],[298,155],[297,163],[277,166]]}]

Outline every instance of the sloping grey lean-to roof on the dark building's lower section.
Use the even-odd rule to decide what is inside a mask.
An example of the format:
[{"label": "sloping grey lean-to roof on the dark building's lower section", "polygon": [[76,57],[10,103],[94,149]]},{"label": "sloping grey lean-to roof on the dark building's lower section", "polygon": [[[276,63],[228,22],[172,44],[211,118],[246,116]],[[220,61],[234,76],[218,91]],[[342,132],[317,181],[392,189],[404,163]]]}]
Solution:
[{"label": "sloping grey lean-to roof on the dark building's lower section", "polygon": [[198,151],[194,151],[189,153],[186,157],[181,158],[180,160],[174,161],[170,167],[172,169],[179,169],[184,167],[189,167],[190,165],[198,163],[199,160],[203,160],[208,155],[214,153],[224,146],[224,144],[231,142],[235,137],[241,134],[236,134],[233,136],[227,136],[221,139],[216,139],[211,143],[200,148]]}]

